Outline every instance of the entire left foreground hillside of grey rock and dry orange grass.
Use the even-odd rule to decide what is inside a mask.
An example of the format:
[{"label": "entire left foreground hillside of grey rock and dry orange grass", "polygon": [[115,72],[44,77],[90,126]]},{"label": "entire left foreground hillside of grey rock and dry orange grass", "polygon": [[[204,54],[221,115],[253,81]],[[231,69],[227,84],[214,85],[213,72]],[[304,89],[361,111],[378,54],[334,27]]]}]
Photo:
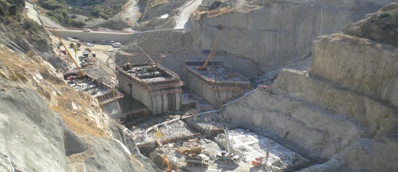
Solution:
[{"label": "entire left foreground hillside of grey rock and dry orange grass", "polygon": [[17,171],[158,171],[96,99],[63,81],[42,55],[46,49],[36,51],[35,39],[26,50],[11,42],[42,35],[37,39],[51,52],[46,31],[16,22],[27,20],[20,11],[3,14],[1,26],[13,30],[2,32],[0,42],[0,157],[9,159],[0,168],[11,171],[11,163]]}]

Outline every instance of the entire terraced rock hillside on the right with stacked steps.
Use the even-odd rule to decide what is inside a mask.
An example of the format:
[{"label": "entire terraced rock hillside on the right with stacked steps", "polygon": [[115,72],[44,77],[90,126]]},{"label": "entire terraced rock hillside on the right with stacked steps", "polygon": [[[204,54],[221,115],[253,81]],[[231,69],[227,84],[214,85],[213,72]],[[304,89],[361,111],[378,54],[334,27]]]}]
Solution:
[{"label": "entire terraced rock hillside on the right with stacked steps", "polygon": [[228,105],[225,114],[324,160],[303,171],[397,171],[398,44],[375,39],[398,37],[386,22],[397,21],[397,9],[390,4],[319,37],[309,71],[282,70],[269,90]]}]

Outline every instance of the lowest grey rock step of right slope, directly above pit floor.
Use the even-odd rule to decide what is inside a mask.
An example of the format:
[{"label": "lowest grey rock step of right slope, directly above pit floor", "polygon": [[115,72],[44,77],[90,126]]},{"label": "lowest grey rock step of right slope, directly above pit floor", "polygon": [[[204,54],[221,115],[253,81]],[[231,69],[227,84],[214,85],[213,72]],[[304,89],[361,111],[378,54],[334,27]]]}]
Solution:
[{"label": "lowest grey rock step of right slope, directly above pit floor", "polygon": [[261,90],[226,107],[225,116],[238,126],[266,131],[292,143],[297,150],[326,159],[364,133],[361,125],[347,117]]}]

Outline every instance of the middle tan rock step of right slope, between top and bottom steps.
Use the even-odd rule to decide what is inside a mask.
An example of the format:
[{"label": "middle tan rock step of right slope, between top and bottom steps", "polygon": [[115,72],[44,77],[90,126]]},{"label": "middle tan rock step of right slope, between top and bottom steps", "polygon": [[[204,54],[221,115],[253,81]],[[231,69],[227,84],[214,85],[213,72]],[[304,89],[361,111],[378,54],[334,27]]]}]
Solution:
[{"label": "middle tan rock step of right slope, between top and bottom steps", "polygon": [[306,77],[304,72],[295,70],[282,70],[272,89],[366,124],[368,135],[372,137],[380,126],[386,124],[385,120],[397,115],[396,108],[383,102],[344,90],[325,80]]}]

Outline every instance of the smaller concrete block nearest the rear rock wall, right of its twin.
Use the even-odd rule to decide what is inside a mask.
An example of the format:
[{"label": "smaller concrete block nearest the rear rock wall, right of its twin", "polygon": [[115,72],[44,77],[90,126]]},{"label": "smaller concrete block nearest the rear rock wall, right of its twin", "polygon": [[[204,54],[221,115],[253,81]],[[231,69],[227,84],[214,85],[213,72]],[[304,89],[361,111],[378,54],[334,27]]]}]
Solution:
[{"label": "smaller concrete block nearest the rear rock wall, right of its twin", "polygon": [[[208,69],[197,70],[197,67],[203,64],[203,61],[185,62],[186,83],[192,91],[201,95],[211,104],[218,105],[218,101],[230,100],[250,89],[249,80],[241,74],[232,72],[232,66],[227,63],[215,61],[212,65],[210,62]],[[218,98],[217,92],[219,92],[220,98]]]}]

